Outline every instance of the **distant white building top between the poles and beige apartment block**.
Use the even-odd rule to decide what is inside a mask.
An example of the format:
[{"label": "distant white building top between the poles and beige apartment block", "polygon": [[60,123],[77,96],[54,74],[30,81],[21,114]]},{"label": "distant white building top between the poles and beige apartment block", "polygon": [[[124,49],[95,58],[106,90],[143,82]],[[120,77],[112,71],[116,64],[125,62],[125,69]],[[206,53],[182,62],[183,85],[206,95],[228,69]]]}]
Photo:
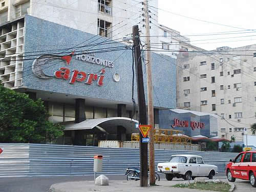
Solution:
[{"label": "distant white building top between the poles and beige apartment block", "polygon": [[[190,44],[190,39],[180,34],[179,31],[170,29],[164,25],[158,25],[159,43],[153,47],[159,49],[160,54],[165,54],[173,58],[177,58],[180,53],[187,55],[187,51],[203,51],[202,48]],[[163,51],[160,51],[162,49]],[[153,48],[153,50],[156,50]]]}]

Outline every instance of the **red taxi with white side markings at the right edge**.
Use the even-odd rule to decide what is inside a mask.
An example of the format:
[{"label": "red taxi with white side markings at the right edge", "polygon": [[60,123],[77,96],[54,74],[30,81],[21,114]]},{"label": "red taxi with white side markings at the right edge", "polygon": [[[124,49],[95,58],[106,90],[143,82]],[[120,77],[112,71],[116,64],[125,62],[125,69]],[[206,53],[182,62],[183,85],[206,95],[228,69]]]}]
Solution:
[{"label": "red taxi with white side markings at the right edge", "polygon": [[238,179],[249,180],[256,187],[256,151],[241,152],[236,159],[230,159],[226,166],[227,179],[230,182]]}]

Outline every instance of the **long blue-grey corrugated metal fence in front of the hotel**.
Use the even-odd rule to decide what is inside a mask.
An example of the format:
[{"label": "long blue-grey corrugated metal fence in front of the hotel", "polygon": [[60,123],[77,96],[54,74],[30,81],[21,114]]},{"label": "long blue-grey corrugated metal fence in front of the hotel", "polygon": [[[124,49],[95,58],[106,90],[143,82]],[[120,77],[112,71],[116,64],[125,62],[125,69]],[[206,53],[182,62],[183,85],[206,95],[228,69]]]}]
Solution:
[{"label": "long blue-grey corrugated metal fence in front of the hotel", "polygon": [[[138,148],[104,148],[47,144],[0,144],[0,177],[93,175],[94,155],[103,155],[102,174],[124,174],[126,167],[139,166]],[[225,171],[236,153],[155,150],[156,165],[174,154],[194,154],[205,163]]]}]

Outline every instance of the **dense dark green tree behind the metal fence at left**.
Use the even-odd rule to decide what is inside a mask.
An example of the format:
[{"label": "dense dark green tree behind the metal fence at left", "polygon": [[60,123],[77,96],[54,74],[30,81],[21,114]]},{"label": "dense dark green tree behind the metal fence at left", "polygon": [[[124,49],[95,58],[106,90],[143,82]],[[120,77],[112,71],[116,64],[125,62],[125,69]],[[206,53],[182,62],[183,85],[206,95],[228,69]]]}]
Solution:
[{"label": "dense dark green tree behind the metal fence at left", "polygon": [[46,143],[63,135],[63,127],[47,119],[43,102],[0,85],[0,142]]}]

